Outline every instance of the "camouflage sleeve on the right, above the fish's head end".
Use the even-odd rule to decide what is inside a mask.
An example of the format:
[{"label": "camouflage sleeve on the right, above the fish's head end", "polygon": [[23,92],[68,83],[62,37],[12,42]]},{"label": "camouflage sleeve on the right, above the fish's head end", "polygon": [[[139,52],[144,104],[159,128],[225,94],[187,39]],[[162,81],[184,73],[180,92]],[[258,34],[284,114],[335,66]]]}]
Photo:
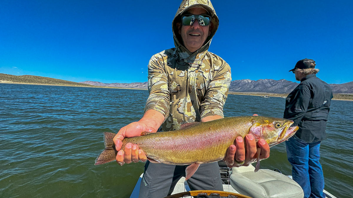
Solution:
[{"label": "camouflage sleeve on the right, above the fish's head end", "polygon": [[204,100],[201,103],[201,119],[207,116],[223,115],[223,105],[228,96],[232,81],[231,67],[226,62],[221,66],[214,65],[214,76],[208,83]]}]

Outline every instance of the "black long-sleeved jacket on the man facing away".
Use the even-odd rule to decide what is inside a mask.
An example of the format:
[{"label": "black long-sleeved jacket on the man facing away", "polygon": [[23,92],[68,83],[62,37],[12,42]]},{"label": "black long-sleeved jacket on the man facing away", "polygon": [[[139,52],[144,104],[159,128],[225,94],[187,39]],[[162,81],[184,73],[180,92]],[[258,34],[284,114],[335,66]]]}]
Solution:
[{"label": "black long-sleeved jacket on the man facing away", "polygon": [[307,143],[326,139],[326,123],[333,98],[330,85],[315,74],[307,75],[288,95],[283,118],[299,126],[295,136]]}]

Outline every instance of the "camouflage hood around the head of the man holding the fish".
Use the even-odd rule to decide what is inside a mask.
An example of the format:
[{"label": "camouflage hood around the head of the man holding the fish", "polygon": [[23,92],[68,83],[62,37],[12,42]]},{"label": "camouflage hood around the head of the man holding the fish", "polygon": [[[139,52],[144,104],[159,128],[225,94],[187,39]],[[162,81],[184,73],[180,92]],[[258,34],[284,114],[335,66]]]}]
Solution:
[{"label": "camouflage hood around the head of the man holding the fish", "polygon": [[[181,40],[181,36],[179,34],[177,23],[181,23],[181,15],[192,7],[202,7],[207,10],[211,16],[211,24],[210,24],[210,36],[207,37],[205,44],[198,49],[197,51],[191,53],[188,49],[185,48],[183,45],[183,41]],[[210,0],[183,0],[179,6],[177,13],[172,22],[172,29],[173,29],[173,37],[174,37],[174,45],[178,50],[179,54],[179,61],[198,64],[198,60],[203,59],[204,55],[206,54],[208,48],[210,47],[210,43],[212,37],[215,35],[219,25],[219,19],[217,17],[216,11],[213,8]]]}]

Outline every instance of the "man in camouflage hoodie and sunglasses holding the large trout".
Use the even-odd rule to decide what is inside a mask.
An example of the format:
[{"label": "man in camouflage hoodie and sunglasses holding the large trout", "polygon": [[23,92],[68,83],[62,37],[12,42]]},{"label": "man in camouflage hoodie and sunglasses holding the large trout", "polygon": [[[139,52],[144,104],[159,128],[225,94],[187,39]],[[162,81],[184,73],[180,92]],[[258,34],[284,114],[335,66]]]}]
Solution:
[{"label": "man in camouflage hoodie and sunglasses holding the large trout", "polygon": [[[118,151],[116,161],[146,161],[147,156],[137,144],[122,140],[143,132],[179,130],[185,123],[208,122],[223,118],[223,105],[231,82],[231,68],[219,56],[208,51],[219,19],[209,0],[183,0],[172,21],[175,48],[152,56],[148,64],[149,97],[144,116],[121,128],[113,141]],[[244,143],[244,140],[246,144]],[[197,144],[197,143],[196,143]],[[258,148],[261,153],[257,154]],[[246,146],[245,146],[246,145]],[[228,147],[224,158],[228,167],[248,166],[269,157],[269,144],[251,134],[239,136]],[[185,153],[186,155],[187,153]],[[146,162],[140,197],[164,197],[185,177],[188,165]],[[190,168],[192,167],[192,168]],[[222,190],[217,162],[192,164],[195,172],[187,182],[191,190]]]}]

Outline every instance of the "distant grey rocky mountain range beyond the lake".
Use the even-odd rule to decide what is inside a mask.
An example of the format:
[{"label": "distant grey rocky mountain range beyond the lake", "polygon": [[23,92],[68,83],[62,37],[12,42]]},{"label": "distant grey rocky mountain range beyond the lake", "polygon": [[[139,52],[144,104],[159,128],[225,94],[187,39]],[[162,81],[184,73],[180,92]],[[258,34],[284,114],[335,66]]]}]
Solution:
[{"label": "distant grey rocky mountain range beyond the lake", "polygon": [[[133,83],[102,83],[97,81],[80,82],[88,85],[103,86],[103,87],[122,87],[122,88],[137,88],[147,89],[147,82],[133,82]],[[285,79],[260,79],[260,80],[233,80],[229,91],[231,92],[256,92],[256,93],[290,93],[298,85],[296,82]],[[353,93],[353,81],[343,84],[329,84],[334,94]]]}]

